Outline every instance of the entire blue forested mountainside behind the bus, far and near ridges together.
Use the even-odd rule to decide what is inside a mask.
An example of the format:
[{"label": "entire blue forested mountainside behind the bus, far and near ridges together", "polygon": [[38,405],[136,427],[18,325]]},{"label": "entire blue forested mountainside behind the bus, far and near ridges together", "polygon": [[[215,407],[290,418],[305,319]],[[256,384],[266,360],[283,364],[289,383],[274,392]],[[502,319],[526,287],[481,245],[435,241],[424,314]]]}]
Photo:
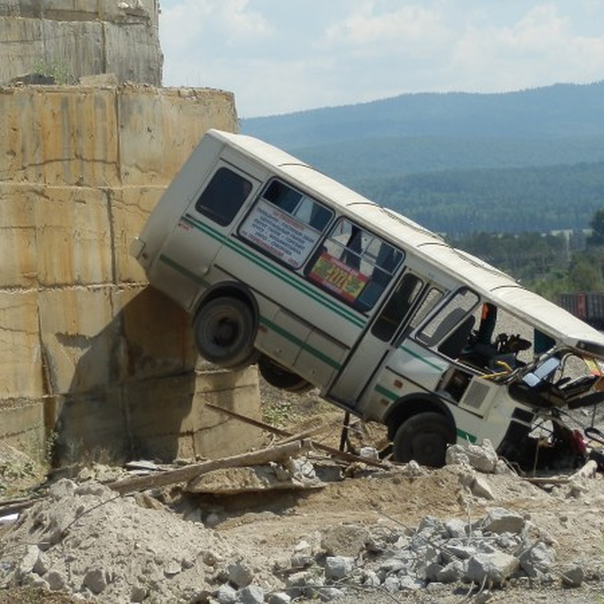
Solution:
[{"label": "entire blue forested mountainside behind the bus, far and near ridges together", "polygon": [[406,94],[243,120],[242,132],[456,237],[579,230],[604,207],[604,81]]}]

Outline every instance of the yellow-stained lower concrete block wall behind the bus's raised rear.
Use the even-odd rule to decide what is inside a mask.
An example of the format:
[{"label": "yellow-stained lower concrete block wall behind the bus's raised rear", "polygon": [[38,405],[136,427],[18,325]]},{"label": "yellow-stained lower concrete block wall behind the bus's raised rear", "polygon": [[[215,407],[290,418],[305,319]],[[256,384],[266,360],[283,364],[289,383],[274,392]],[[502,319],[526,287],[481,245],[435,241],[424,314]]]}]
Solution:
[{"label": "yellow-stained lower concrete block wall behind the bus's raised rear", "polygon": [[236,128],[233,96],[22,86],[0,115],[0,439],[38,458],[56,440],[61,460],[254,445],[204,405],[257,416],[257,373],[202,370],[190,319],[128,254],[205,130]]}]

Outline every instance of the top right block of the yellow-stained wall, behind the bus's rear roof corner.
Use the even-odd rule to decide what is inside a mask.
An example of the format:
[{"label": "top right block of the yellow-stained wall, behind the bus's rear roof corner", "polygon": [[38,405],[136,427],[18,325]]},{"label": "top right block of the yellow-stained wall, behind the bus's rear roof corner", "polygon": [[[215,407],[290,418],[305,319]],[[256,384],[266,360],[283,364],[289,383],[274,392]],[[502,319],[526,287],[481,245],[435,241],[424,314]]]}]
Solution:
[{"label": "top right block of the yellow-stained wall, behind the bus's rear roof corner", "polygon": [[237,127],[231,92],[124,86],[118,95],[123,185],[167,185],[208,128]]}]

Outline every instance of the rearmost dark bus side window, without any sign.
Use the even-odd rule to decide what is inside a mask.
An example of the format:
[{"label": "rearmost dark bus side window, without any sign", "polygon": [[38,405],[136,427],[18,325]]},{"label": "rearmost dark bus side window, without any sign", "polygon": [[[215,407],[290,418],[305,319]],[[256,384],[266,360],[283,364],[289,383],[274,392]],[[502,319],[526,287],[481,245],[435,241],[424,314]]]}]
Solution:
[{"label": "rearmost dark bus side window, without any sign", "polygon": [[226,226],[233,221],[251,190],[251,182],[228,168],[219,168],[199,196],[195,209],[220,226]]}]

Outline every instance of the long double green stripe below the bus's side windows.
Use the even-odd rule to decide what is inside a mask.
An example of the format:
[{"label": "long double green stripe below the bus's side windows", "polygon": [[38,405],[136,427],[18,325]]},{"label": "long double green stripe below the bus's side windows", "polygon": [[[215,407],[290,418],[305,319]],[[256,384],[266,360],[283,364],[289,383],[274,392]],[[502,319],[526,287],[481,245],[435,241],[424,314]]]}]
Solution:
[{"label": "long double green stripe below the bus's side windows", "polygon": [[342,318],[347,321],[350,321],[350,323],[355,324],[357,327],[361,327],[361,329],[365,326],[365,321],[362,318],[359,318],[359,316],[355,315],[355,313],[345,307],[340,306],[332,298],[321,294],[321,292],[316,291],[315,289],[309,288],[308,286],[306,286],[306,284],[300,283],[300,281],[298,281],[297,278],[295,278],[293,275],[289,274],[286,271],[283,271],[283,269],[280,269],[277,266],[271,265],[265,259],[263,259],[257,254],[254,254],[254,252],[241,245],[236,240],[231,239],[230,237],[225,237],[220,233],[217,233],[213,230],[213,228],[203,222],[200,222],[199,220],[194,219],[189,214],[185,214],[185,216],[182,216],[182,220],[184,220],[184,222],[187,222],[188,225],[193,226],[194,228],[197,228],[200,231],[203,231],[205,234],[212,237],[216,241],[222,243],[223,245],[226,245],[229,248],[233,249],[233,251],[237,252],[237,254],[245,256],[248,260],[251,260],[251,262],[254,262],[263,270],[270,272],[272,275],[280,278],[282,281],[286,281],[286,283],[300,291],[302,294],[312,298],[320,304],[323,304],[323,306],[328,307],[333,312],[338,313],[340,316],[342,316]]}]

